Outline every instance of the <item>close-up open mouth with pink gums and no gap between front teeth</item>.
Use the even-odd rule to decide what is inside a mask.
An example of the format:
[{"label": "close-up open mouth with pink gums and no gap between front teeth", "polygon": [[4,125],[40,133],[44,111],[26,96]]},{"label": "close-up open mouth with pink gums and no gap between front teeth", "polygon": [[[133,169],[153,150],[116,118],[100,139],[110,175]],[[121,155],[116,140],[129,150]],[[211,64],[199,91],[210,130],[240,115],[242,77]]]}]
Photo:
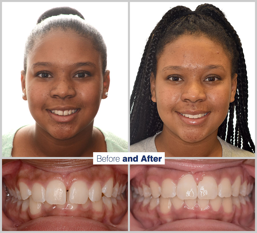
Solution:
[{"label": "close-up open mouth with pink gums and no gap between front teeth", "polygon": [[143,229],[254,229],[254,167],[192,173],[164,167],[140,166],[130,181],[131,213]]}]

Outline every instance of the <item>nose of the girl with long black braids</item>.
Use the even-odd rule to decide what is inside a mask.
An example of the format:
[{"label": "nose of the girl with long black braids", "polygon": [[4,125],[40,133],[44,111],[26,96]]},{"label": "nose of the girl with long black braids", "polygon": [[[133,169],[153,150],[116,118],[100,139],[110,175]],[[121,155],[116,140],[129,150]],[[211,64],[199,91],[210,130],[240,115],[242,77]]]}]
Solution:
[{"label": "nose of the girl with long black braids", "polygon": [[206,91],[203,84],[197,81],[185,83],[182,88],[181,100],[193,103],[206,100]]}]

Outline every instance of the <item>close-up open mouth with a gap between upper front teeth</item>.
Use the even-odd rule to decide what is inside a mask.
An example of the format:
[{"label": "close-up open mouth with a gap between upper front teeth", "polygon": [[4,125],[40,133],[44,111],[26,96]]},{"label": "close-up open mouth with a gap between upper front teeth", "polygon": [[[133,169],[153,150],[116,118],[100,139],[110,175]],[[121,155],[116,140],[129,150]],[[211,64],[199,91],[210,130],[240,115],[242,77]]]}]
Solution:
[{"label": "close-up open mouth with a gap between upper front teeth", "polygon": [[114,230],[127,212],[127,175],[108,165],[71,173],[68,168],[64,175],[20,160],[3,165],[2,209],[8,221],[2,227],[88,230],[97,224],[96,229]]}]

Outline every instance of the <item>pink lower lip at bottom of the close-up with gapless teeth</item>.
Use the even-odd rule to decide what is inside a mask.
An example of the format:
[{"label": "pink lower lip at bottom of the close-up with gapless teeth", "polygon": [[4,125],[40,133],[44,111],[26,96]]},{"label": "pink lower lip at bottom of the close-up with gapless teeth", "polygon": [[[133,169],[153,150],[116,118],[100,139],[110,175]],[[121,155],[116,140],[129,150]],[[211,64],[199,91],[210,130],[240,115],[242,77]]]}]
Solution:
[{"label": "pink lower lip at bottom of the close-up with gapless teeth", "polygon": [[219,220],[213,220],[213,219],[184,219],[184,220],[177,220],[174,222],[169,222],[162,224],[157,227],[153,227],[150,229],[147,229],[148,231],[245,231],[249,230],[252,231],[253,229],[244,227],[244,226],[238,226],[233,223],[229,222],[222,222]]}]

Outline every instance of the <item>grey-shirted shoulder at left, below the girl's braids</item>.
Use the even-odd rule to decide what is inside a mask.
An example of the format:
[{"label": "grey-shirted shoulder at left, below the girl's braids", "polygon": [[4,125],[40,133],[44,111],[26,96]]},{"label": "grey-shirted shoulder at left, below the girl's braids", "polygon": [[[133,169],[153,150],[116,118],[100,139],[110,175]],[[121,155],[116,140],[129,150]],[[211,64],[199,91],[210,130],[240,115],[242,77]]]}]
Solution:
[{"label": "grey-shirted shoulder at left, below the girl's braids", "polygon": [[130,146],[130,152],[157,152],[154,140],[157,134]]}]

